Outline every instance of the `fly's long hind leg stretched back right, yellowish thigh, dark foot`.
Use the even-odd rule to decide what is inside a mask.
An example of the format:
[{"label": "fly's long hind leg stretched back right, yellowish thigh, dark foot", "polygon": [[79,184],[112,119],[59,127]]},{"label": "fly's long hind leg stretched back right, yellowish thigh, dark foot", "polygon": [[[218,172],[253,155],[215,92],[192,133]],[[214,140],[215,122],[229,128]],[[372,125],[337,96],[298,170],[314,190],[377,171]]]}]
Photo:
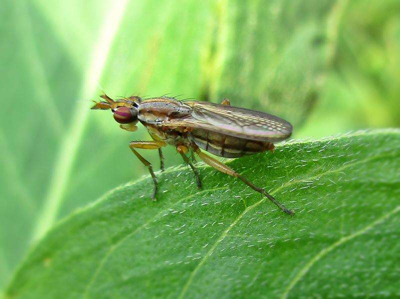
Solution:
[{"label": "fly's long hind leg stretched back right, yellowish thigh, dark foot", "polygon": [[214,158],[208,156],[207,154],[204,154],[203,152],[200,151],[198,147],[194,148],[194,151],[196,154],[200,157],[201,160],[203,160],[206,164],[209,166],[219,170],[220,172],[226,173],[232,177],[240,179],[244,184],[249,186],[251,189],[261,193],[262,195],[266,196],[271,202],[273,202],[280,210],[285,212],[286,214],[293,215],[294,212],[292,210],[286,209],[281,203],[279,203],[276,199],[272,197],[269,193],[267,193],[264,189],[255,186],[253,183],[247,181],[243,176],[238,174],[236,171],[231,169],[230,167],[226,166],[225,164],[219,162],[218,160],[215,160]]}]

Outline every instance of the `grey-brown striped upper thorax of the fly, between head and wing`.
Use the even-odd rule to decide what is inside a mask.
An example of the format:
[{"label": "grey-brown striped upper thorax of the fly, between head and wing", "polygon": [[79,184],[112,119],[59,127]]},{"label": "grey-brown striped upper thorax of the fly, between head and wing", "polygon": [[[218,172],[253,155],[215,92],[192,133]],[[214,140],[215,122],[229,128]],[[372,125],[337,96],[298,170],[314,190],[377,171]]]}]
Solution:
[{"label": "grey-brown striped upper thorax of the fly, between head and wing", "polygon": [[138,107],[138,119],[142,123],[157,123],[190,114],[190,107],[171,98],[151,98]]}]

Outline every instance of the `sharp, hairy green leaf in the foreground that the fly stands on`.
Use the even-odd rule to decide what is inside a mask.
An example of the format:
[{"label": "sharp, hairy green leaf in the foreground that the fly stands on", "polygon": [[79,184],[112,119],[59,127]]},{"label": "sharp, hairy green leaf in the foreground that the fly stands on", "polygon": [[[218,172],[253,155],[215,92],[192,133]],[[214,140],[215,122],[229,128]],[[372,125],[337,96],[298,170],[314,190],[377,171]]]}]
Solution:
[{"label": "sharp, hairy green leaf in the foreground that the fly stands on", "polygon": [[296,211],[209,167],[107,193],[30,252],[6,296],[398,296],[400,130],[292,141],[229,164]]}]

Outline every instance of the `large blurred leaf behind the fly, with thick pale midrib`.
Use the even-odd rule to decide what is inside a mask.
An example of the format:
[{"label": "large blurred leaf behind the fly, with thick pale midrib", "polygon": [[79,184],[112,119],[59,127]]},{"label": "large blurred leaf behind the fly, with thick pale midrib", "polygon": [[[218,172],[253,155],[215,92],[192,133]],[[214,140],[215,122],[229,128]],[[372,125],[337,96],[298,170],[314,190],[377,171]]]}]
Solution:
[{"label": "large blurred leaf behind the fly, with thick pale midrib", "polygon": [[[148,134],[129,134],[110,113],[89,110],[101,88],[111,96],[228,96],[300,123],[324,61],[312,41],[332,5],[3,1],[0,288],[55,221],[147,173],[127,144]],[[298,57],[304,65],[292,63]],[[270,86],[282,95],[271,105],[261,97]],[[156,151],[145,156],[158,166]],[[181,163],[173,148],[165,157]]]}]

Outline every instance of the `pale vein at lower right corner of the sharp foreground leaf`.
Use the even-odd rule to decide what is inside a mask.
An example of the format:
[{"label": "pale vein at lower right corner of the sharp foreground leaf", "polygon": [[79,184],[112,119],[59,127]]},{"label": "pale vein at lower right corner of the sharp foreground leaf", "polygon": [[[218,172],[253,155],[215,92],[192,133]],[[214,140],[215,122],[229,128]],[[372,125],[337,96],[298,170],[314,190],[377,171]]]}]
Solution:
[{"label": "pale vein at lower right corner of the sharp foreground leaf", "polygon": [[309,260],[308,263],[306,263],[304,265],[303,268],[300,269],[300,271],[298,271],[297,275],[290,281],[290,283],[288,284],[287,288],[285,289],[285,291],[283,292],[281,298],[287,298],[289,292],[293,289],[293,287],[307,274],[307,272],[311,269],[311,267],[318,262],[321,258],[323,258],[325,255],[327,255],[329,252],[331,252],[332,250],[334,250],[336,247],[342,245],[343,243],[350,241],[352,239],[354,239],[355,237],[358,237],[359,235],[362,235],[364,233],[366,233],[367,231],[369,231],[371,228],[373,228],[374,226],[381,224],[382,222],[384,222],[385,220],[387,220],[390,216],[396,214],[398,211],[400,211],[400,206],[396,206],[392,211],[390,211],[389,213],[379,217],[378,219],[376,219],[375,221],[373,221],[371,224],[365,226],[363,229],[354,232],[353,234],[350,234],[348,236],[342,237],[340,238],[338,241],[336,241],[335,243],[333,243],[332,245],[322,249],[320,252],[318,252],[318,254],[316,254],[311,260]]}]

